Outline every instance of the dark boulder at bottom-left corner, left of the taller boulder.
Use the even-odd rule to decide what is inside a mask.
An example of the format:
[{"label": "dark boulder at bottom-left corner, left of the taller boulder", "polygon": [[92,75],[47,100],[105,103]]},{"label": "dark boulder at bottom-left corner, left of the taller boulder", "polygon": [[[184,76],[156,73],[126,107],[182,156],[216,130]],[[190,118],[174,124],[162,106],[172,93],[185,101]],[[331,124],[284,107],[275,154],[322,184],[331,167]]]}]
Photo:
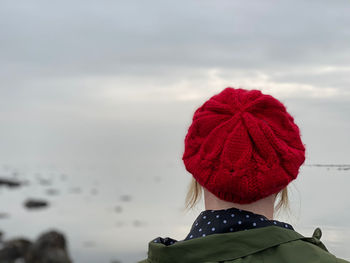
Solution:
[{"label": "dark boulder at bottom-left corner, left of the taller boulder", "polygon": [[28,253],[32,243],[27,239],[14,239],[3,243],[0,249],[0,262],[14,263]]}]

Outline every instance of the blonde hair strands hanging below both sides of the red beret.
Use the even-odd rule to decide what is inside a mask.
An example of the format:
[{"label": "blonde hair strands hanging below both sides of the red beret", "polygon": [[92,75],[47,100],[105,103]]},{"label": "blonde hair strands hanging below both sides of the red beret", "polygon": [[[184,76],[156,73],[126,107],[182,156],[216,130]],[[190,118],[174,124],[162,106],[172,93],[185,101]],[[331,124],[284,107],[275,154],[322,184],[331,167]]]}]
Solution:
[{"label": "blonde hair strands hanging below both sides of the red beret", "polygon": [[[186,199],[185,199],[185,208],[187,210],[193,209],[196,204],[202,198],[202,186],[192,177],[192,180],[188,186]],[[285,187],[282,189],[276,197],[277,204],[275,205],[275,210],[280,211],[281,209],[289,209],[289,199],[288,199],[288,189]]]}]

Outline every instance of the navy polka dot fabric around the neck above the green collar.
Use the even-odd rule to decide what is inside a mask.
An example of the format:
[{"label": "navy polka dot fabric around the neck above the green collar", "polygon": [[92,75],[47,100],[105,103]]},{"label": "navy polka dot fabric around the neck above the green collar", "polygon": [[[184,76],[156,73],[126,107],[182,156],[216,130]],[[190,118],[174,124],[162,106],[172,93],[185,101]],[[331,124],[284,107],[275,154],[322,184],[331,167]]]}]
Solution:
[{"label": "navy polka dot fabric around the neck above the green collar", "polygon": [[[290,224],[277,220],[269,220],[263,215],[237,208],[205,210],[199,214],[192,225],[190,233],[181,241],[206,237],[213,234],[244,231],[266,226],[278,226],[294,230]],[[153,240],[155,243],[162,243],[166,246],[181,241],[169,237],[158,237]]]}]

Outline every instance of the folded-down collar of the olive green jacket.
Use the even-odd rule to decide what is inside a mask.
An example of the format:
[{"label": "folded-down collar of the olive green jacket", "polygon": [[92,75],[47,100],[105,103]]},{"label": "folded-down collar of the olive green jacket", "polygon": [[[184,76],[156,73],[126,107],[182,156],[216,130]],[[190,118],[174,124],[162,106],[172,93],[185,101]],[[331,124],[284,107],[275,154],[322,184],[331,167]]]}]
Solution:
[{"label": "folded-down collar of the olive green jacket", "polygon": [[[268,238],[266,238],[268,236]],[[308,238],[276,226],[213,234],[178,241],[171,246],[149,243],[148,259],[154,263],[218,262],[241,258],[290,241]],[[205,248],[205,249],[203,249]]]}]

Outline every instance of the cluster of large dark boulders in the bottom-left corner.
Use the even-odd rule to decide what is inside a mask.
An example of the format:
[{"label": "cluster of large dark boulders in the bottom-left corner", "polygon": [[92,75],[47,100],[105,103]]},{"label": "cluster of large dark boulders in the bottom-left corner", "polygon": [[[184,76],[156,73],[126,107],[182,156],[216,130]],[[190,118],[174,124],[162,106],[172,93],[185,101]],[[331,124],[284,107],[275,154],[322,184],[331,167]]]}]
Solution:
[{"label": "cluster of large dark boulders in the bottom-left corner", "polygon": [[0,262],[14,263],[71,263],[63,234],[50,231],[42,234],[35,242],[14,239],[4,242],[0,249]]}]

